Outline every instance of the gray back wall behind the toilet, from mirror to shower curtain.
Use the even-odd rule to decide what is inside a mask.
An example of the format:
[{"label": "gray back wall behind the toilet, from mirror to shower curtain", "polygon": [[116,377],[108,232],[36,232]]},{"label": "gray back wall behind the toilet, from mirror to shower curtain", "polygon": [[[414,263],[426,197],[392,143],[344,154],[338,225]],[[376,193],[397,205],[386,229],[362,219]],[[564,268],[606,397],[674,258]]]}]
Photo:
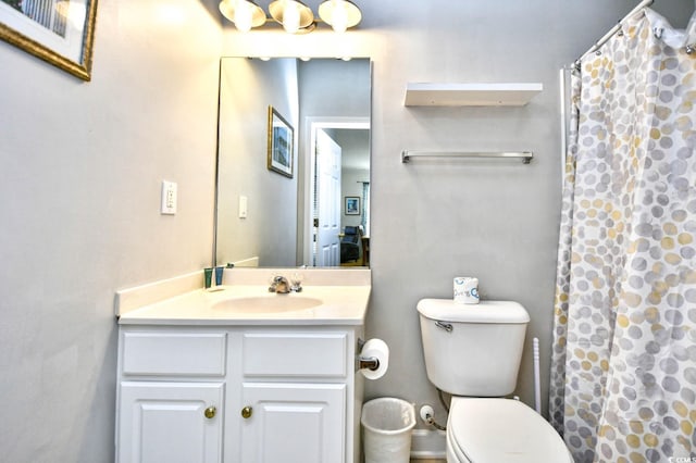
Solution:
[{"label": "gray back wall behind the toilet, from mirror to shower curtain", "polygon": [[[673,11],[681,22],[693,11],[686,0],[657,3],[658,11],[680,7]],[[486,298],[517,300],[530,312],[517,393],[533,403],[531,346],[538,337],[547,397],[560,207],[558,72],[634,4],[380,4],[394,15],[380,23],[388,30],[373,55],[373,297],[366,328],[394,354],[390,371],[366,387],[368,396],[430,402],[445,420],[425,376],[415,304],[423,297],[451,298],[452,277],[467,275],[480,278]],[[520,109],[403,108],[407,82],[540,82],[544,91]],[[531,150],[535,160],[529,166],[402,165],[402,149]]]}]

